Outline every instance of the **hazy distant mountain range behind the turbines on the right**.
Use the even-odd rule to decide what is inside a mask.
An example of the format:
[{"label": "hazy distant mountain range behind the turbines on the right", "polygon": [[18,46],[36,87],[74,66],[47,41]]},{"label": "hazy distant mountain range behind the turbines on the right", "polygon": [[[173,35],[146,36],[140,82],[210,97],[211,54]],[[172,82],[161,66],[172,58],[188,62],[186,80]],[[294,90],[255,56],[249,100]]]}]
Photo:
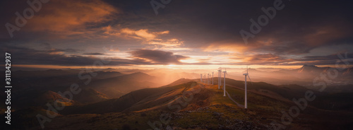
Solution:
[{"label": "hazy distant mountain range behind the turbines on the right", "polygon": [[[313,79],[320,76],[321,73],[327,73],[330,69],[332,68],[318,67],[314,65],[304,65],[299,69],[280,69],[277,71],[258,71],[257,69],[249,69],[249,76],[253,81],[263,81],[275,85],[298,84],[311,88],[313,87]],[[337,71],[337,77],[330,79],[332,83],[328,85],[353,84],[352,68],[343,70],[337,69]],[[246,73],[246,71],[243,71],[242,73]],[[228,77],[244,81],[242,73],[232,73],[230,71]]]}]

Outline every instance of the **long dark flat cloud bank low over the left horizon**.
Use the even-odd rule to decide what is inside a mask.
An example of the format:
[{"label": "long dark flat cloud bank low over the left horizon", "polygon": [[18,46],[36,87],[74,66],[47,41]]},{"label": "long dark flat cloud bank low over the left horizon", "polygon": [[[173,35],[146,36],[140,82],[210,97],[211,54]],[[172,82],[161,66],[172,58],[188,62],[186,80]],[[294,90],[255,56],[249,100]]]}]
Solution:
[{"label": "long dark flat cloud bank low over the left horizon", "polygon": [[[28,49],[25,47],[14,47],[10,45],[3,45],[1,51],[9,52],[12,55],[11,63],[13,64],[34,64],[34,65],[61,65],[61,66],[92,66],[95,61],[102,61],[98,57],[83,57],[80,55],[66,55],[57,51],[42,51],[35,49]],[[105,58],[104,60],[108,60]],[[150,64],[149,62],[141,61],[139,59],[110,59],[109,64],[105,65],[131,65],[131,64]]]}]

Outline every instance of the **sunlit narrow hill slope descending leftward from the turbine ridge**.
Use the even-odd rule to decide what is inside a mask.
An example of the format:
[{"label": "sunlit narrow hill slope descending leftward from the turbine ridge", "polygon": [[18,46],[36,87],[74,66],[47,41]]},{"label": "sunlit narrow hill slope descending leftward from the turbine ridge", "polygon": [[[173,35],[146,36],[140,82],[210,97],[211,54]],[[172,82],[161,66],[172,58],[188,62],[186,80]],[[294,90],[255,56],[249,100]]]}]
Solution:
[{"label": "sunlit narrow hill slope descending leftward from the turbine ridge", "polygon": [[[167,103],[174,102],[174,97],[181,95],[184,91],[193,90],[194,88],[192,89],[191,85],[196,85],[196,82],[183,83],[172,87],[135,90],[120,98],[90,105],[71,106],[64,110],[63,114],[102,114],[107,112],[165,109]],[[193,87],[199,88],[201,86]]]}]

